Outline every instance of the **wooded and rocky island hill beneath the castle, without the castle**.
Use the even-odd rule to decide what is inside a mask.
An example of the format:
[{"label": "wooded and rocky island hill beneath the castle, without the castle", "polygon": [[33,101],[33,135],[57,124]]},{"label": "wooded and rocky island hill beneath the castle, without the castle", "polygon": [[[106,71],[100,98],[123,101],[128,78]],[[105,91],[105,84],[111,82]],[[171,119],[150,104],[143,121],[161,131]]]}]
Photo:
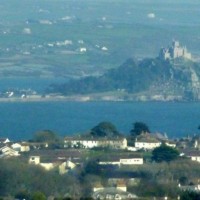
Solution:
[{"label": "wooded and rocky island hill beneath the castle, without the castle", "polygon": [[51,85],[47,93],[93,96],[95,93],[112,92],[114,95],[121,92],[122,100],[199,100],[199,80],[200,65],[190,60],[155,58],[135,62],[128,59],[102,76]]}]

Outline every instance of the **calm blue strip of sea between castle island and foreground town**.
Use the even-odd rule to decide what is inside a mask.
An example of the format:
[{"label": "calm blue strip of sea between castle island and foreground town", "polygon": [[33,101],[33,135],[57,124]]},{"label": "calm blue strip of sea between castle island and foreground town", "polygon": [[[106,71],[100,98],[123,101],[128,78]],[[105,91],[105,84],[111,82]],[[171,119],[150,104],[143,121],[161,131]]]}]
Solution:
[{"label": "calm blue strip of sea between castle island and foreground town", "polygon": [[27,102],[0,103],[0,137],[31,139],[38,130],[60,136],[85,132],[101,121],[110,121],[129,134],[136,121],[152,132],[171,138],[194,134],[200,125],[200,103],[162,102]]}]

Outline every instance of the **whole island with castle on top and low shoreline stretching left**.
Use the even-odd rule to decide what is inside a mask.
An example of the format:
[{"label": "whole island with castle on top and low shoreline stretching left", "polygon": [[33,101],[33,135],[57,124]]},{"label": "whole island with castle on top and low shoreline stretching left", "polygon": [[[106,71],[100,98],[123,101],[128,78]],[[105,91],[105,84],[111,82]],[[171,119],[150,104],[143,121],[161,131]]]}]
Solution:
[{"label": "whole island with castle on top and low shoreline stretching left", "polygon": [[103,75],[52,83],[45,91],[8,90],[0,101],[199,101],[200,64],[178,41],[156,58],[127,59]]}]

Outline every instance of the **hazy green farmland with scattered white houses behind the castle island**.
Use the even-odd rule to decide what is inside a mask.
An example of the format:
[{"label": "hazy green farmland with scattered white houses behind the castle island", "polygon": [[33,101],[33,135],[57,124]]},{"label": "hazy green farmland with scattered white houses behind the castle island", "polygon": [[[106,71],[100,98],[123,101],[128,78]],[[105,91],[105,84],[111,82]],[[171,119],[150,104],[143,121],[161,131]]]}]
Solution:
[{"label": "hazy green farmland with scattered white houses behind the castle island", "polygon": [[98,75],[129,57],[155,57],[172,39],[198,56],[199,4],[2,0],[0,76]]}]

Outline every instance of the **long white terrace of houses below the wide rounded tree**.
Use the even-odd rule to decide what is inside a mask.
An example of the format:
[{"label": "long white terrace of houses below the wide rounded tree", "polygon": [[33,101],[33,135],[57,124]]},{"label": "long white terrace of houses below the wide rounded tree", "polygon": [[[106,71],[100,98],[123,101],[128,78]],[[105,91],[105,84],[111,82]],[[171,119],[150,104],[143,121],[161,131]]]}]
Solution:
[{"label": "long white terrace of houses below the wide rounded tree", "polygon": [[114,149],[126,149],[127,139],[122,137],[117,138],[83,138],[83,137],[65,137],[65,147],[82,147],[82,148],[94,148],[94,147],[110,147]]}]

